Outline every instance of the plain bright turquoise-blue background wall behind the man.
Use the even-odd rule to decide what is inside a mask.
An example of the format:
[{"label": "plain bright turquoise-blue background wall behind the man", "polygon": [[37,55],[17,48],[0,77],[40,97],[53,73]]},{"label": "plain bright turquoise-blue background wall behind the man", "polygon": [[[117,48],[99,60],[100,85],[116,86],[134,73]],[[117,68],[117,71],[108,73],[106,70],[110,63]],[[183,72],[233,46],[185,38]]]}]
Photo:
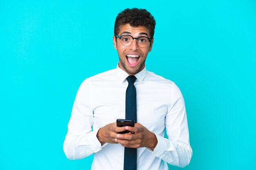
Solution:
[{"label": "plain bright turquoise-blue background wall behind the man", "polygon": [[[255,170],[256,1],[0,1],[0,170],[90,170],[63,141],[81,82],[115,68],[115,17],[157,21],[146,66],[186,102],[184,170]],[[180,168],[169,166],[170,170]]]}]

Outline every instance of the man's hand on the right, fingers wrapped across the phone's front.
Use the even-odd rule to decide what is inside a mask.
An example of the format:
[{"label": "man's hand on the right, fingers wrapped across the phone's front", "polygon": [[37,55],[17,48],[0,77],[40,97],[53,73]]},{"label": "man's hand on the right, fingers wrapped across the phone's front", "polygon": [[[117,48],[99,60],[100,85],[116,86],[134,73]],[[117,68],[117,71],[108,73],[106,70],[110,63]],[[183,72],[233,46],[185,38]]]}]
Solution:
[{"label": "man's hand on the right, fingers wrapped across the phone's front", "polygon": [[[128,148],[147,147],[154,150],[155,146],[157,146],[157,137],[155,134],[141,124],[136,123],[135,127],[124,127],[125,130],[130,132],[126,134],[117,134],[115,142]],[[134,134],[132,132],[134,132]]]}]

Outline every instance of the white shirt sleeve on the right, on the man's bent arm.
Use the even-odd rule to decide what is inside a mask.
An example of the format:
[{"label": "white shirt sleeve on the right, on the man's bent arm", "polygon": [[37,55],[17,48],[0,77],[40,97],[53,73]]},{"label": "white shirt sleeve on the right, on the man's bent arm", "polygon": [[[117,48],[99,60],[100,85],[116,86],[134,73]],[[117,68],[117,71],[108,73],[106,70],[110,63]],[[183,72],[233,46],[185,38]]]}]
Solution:
[{"label": "white shirt sleeve on the right, on the man's bent arm", "polygon": [[168,139],[155,134],[158,143],[153,154],[173,166],[185,167],[192,157],[185,103],[176,85],[171,95],[171,105],[165,117]]}]

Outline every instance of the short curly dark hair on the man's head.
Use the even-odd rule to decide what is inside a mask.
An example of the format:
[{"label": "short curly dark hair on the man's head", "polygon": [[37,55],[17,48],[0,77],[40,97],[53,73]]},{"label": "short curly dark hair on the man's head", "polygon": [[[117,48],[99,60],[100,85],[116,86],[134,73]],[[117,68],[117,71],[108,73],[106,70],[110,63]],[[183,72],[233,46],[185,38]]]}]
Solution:
[{"label": "short curly dark hair on the man's head", "polygon": [[130,24],[130,26],[145,26],[149,29],[149,36],[153,38],[155,33],[155,18],[146,9],[125,9],[121,11],[115,21],[114,34],[118,35],[120,26]]}]

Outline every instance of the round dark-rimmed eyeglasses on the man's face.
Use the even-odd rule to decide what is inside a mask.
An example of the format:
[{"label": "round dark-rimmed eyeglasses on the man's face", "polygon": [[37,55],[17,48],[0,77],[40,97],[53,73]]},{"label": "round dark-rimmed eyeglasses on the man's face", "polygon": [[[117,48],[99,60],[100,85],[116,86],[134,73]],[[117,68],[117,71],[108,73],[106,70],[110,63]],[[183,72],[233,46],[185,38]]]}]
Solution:
[{"label": "round dark-rimmed eyeglasses on the man's face", "polygon": [[151,38],[148,38],[145,36],[134,38],[131,35],[121,35],[121,36],[116,35],[116,37],[120,39],[121,44],[123,44],[123,46],[130,46],[133,42],[133,39],[137,39],[138,46],[143,48],[148,46],[148,44],[151,41]]}]

